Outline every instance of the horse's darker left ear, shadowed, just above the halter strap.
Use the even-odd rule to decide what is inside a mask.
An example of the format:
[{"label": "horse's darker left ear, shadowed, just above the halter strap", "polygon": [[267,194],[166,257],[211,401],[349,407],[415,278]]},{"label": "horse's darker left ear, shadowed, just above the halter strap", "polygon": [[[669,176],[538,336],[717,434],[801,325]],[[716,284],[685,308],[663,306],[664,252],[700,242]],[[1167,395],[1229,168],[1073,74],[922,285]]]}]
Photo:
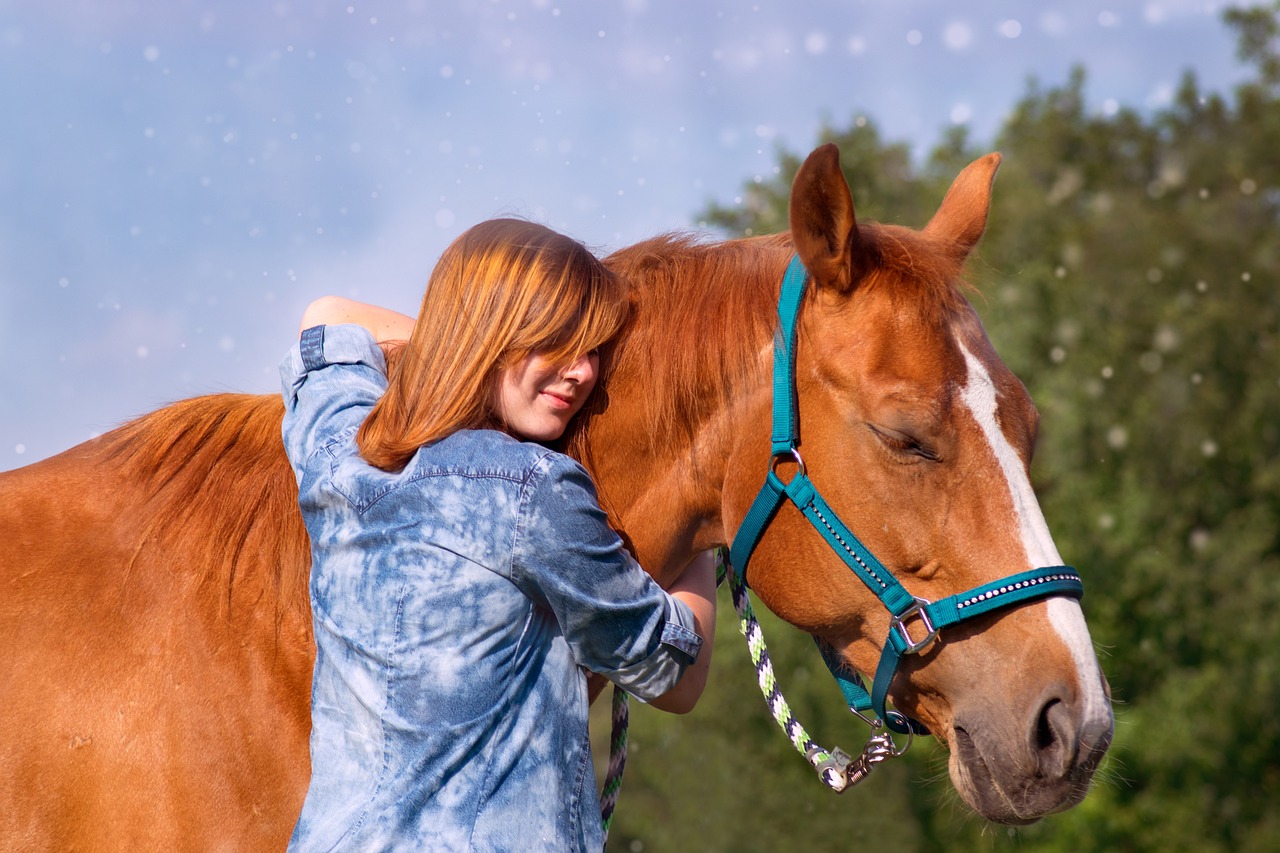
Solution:
[{"label": "horse's darker left ear, shadowed, just above the halter strap", "polygon": [[819,287],[845,292],[856,280],[858,219],[832,142],[805,159],[791,184],[791,240]]}]

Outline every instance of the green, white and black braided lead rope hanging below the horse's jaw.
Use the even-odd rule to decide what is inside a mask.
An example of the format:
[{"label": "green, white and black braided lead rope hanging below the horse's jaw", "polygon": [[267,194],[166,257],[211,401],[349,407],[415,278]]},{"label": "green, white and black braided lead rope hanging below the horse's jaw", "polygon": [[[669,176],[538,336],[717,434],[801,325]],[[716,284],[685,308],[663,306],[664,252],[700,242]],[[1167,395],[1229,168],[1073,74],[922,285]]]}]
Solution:
[{"label": "green, white and black braided lead rope hanging below the horse's jaw", "polygon": [[[769,651],[764,646],[764,633],[760,630],[760,622],[756,621],[755,611],[751,608],[746,584],[728,566],[727,556],[724,548],[718,548],[716,552],[717,583],[724,578],[728,579],[733,610],[737,612],[739,631],[746,638],[746,648],[751,656],[751,663],[755,665],[756,681],[760,685],[760,693],[764,694],[764,703],[769,707],[773,720],[782,729],[787,740],[796,748],[796,752],[804,756],[809,766],[818,772],[818,777],[823,784],[836,793],[844,793],[865,779],[876,768],[876,765],[906,752],[906,747],[902,749],[897,748],[892,735],[881,727],[879,721],[872,722],[856,712],[859,719],[872,724],[872,736],[867,740],[867,745],[863,747],[863,752],[858,758],[850,758],[838,747],[824,749],[814,743],[809,733],[805,731],[805,727],[800,725],[800,721],[792,716],[791,706],[782,695],[782,690],[778,689],[777,679],[773,674],[773,661],[769,658]],[[910,747],[910,740],[908,740],[908,747]]]}]

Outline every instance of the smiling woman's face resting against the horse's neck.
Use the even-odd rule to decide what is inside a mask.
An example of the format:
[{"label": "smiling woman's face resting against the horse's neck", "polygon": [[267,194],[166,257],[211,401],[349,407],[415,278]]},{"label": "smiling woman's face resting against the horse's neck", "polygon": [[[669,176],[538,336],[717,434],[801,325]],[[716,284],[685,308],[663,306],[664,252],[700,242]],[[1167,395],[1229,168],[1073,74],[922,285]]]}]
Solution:
[{"label": "smiling woman's face resting against the horse's neck", "polygon": [[556,441],[595,388],[600,357],[593,350],[570,364],[552,364],[539,353],[498,374],[498,414],[516,438]]}]

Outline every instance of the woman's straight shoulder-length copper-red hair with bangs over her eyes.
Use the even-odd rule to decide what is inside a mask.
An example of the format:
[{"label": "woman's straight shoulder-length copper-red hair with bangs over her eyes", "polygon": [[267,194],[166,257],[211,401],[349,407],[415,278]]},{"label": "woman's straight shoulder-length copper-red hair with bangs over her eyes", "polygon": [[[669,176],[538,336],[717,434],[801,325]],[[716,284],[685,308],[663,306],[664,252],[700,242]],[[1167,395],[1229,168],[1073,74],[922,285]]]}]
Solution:
[{"label": "woman's straight shoulder-length copper-red hair with bangs over her eyes", "polygon": [[499,426],[499,371],[532,352],[570,362],[609,341],[625,282],[582,243],[520,219],[453,241],[431,272],[410,339],[388,359],[387,392],[360,426],[360,455],[387,471],[460,429]]}]

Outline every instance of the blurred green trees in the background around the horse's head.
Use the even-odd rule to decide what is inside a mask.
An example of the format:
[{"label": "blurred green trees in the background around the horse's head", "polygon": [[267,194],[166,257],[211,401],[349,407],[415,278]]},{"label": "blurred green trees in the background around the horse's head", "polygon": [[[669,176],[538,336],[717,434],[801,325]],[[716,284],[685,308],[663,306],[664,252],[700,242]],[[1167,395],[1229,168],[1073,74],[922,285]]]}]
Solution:
[{"label": "blurred green trees in the background around the horse's head", "polygon": [[[1111,756],[1074,811],[1010,831],[968,815],[943,756],[837,798],[772,729],[722,617],[713,685],[685,720],[639,713],[614,849],[1270,850],[1280,848],[1280,4],[1231,9],[1253,79],[1097,114],[1085,72],[1032,83],[969,275],[1043,415],[1034,479],[1116,698]],[[982,154],[923,163],[873,122],[827,127],[859,216],[923,225]],[[786,228],[801,156],[704,218]],[[823,740],[856,748],[806,638],[767,625],[780,680]],[[741,654],[741,661],[732,660]],[[645,758],[662,751],[662,760]]]}]

